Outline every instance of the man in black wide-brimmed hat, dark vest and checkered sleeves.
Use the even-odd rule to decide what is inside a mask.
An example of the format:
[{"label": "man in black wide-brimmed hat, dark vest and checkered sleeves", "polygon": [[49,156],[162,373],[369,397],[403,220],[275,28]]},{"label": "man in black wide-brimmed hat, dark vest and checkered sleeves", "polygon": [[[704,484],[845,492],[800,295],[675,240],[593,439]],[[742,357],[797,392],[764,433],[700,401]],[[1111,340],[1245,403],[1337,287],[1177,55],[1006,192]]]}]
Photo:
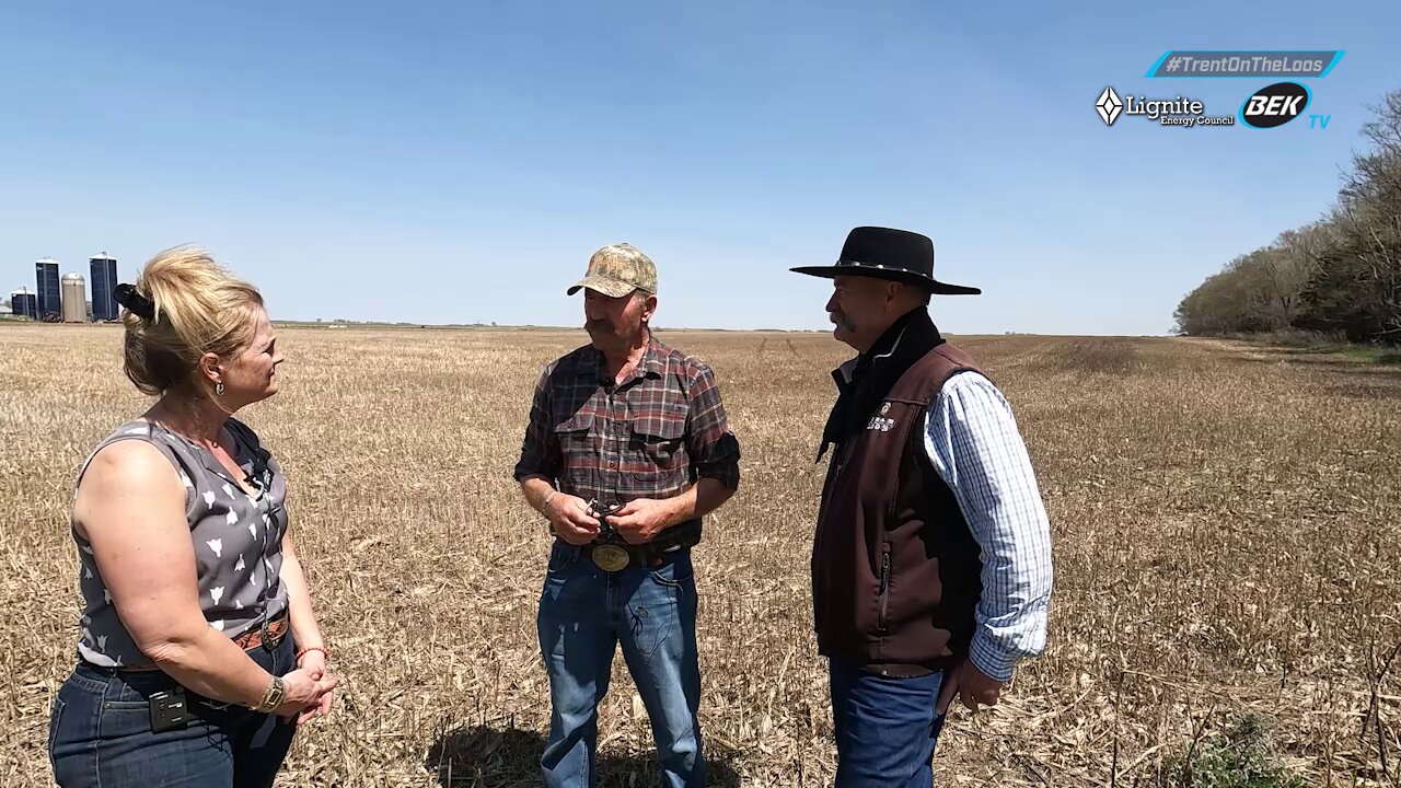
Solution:
[{"label": "man in black wide-brimmed hat, dark vest and checkered sleeves", "polygon": [[835,265],[829,460],[813,545],[818,652],[829,660],[836,785],[930,785],[957,697],[993,705],[1045,648],[1051,538],[1027,450],[998,387],[939,335],[933,243],[857,227]]}]

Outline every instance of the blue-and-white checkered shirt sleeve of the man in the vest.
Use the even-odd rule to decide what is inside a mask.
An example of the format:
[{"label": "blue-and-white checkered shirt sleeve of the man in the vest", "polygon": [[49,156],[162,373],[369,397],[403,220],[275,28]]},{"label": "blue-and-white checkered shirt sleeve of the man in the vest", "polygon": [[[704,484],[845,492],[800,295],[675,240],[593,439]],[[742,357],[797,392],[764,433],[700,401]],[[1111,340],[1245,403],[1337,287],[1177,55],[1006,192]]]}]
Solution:
[{"label": "blue-and-white checkered shirt sleeve of the man in the vest", "polygon": [[969,659],[1007,680],[1047,644],[1051,523],[1012,407],[991,380],[961,372],[929,408],[925,451],[982,547],[982,597]]}]

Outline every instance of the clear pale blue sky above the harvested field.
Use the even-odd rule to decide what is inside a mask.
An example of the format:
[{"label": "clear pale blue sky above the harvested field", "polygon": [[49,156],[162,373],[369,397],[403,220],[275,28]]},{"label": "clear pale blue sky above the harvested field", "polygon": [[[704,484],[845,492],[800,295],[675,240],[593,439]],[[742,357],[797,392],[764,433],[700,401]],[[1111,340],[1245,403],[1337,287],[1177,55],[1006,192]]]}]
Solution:
[{"label": "clear pale blue sky above the harvested field", "polygon": [[[1166,334],[1401,88],[1401,3],[1068,6],[6,4],[0,290],[195,243],[273,318],[576,325],[629,241],[660,325],[824,328],[787,269],[884,224],[984,289],[946,331]],[[1275,81],[1143,79],[1167,49],[1345,49],[1309,80],[1332,119],[1104,126],[1105,86],[1234,114]]]}]

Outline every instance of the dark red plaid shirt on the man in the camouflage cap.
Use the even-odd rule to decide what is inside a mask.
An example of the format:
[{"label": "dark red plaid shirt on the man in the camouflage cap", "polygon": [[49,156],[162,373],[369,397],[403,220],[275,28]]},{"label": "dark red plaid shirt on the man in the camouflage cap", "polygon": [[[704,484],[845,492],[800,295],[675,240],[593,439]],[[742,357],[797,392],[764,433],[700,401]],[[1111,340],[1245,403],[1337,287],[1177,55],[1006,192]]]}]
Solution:
[{"label": "dark red plaid shirt on the man in the camouflage cap", "polygon": [[715,373],[650,338],[622,384],[591,345],[546,366],[535,386],[516,480],[539,475],[584,501],[671,498],[699,478],[740,485],[740,443]]}]

